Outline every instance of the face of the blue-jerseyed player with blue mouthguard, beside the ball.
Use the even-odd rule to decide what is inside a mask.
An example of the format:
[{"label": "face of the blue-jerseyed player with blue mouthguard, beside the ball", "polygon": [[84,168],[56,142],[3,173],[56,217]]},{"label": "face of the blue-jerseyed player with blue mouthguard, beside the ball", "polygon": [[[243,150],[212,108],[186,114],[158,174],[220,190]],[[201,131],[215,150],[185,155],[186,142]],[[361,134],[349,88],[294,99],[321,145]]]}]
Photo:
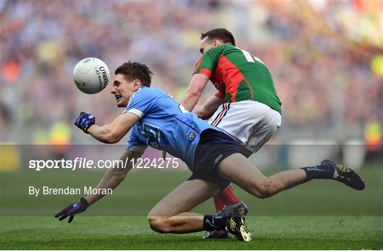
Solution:
[{"label": "face of the blue-jerseyed player with blue mouthguard, beside the ball", "polygon": [[111,94],[116,97],[118,107],[126,107],[133,93],[140,87],[140,80],[127,81],[123,74],[117,74],[113,81]]}]

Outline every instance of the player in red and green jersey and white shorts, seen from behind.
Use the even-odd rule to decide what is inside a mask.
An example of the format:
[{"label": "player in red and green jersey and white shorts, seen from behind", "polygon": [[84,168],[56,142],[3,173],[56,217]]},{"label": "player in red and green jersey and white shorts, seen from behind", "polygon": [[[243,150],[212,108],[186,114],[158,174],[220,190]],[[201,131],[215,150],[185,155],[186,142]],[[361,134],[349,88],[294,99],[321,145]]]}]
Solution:
[{"label": "player in red and green jersey and white shorts, seen from behind", "polygon": [[[216,28],[201,33],[200,52],[194,75],[181,104],[199,118],[231,135],[250,157],[260,150],[281,125],[281,101],[277,96],[272,74],[259,58],[235,47],[230,31]],[[217,93],[204,105],[196,106],[207,82],[211,80]],[[214,197],[216,211],[243,207],[228,186]],[[207,238],[225,238],[226,233],[212,233]]]}]

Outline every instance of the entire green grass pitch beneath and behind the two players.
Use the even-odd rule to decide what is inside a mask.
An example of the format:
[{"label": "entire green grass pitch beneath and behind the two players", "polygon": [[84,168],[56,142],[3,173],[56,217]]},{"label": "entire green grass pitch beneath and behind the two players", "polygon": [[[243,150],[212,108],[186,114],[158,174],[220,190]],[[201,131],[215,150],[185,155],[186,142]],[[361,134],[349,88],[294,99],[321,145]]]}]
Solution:
[{"label": "entire green grass pitch beneath and behind the two players", "polygon": [[[273,171],[274,172],[274,171]],[[270,173],[273,173],[270,172]],[[128,174],[113,195],[91,206],[74,222],[53,215],[79,196],[28,196],[28,186],[95,186],[103,172],[20,169],[1,174],[0,240],[4,250],[318,250],[383,249],[383,169],[365,167],[367,184],[355,191],[333,181],[313,181],[272,198],[256,199],[235,187],[248,204],[255,238],[201,240],[203,233],[161,235],[146,215],[189,172]],[[211,200],[194,211],[213,213]]]}]

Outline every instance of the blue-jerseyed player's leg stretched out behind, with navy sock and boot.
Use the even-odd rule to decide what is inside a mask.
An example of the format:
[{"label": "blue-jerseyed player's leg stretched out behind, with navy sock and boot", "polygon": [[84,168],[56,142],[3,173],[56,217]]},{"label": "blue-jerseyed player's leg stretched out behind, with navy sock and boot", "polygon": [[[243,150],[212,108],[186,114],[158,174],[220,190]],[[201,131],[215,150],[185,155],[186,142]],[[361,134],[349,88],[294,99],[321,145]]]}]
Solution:
[{"label": "blue-jerseyed player's leg stretched out behind, with navy sock and boot", "polygon": [[[321,169],[322,166],[323,169]],[[357,190],[365,187],[356,172],[329,160],[321,162],[321,165],[316,167],[294,169],[265,177],[246,157],[235,153],[218,164],[218,172],[224,179],[234,182],[260,199],[273,196],[279,191],[292,188],[310,179],[335,179]],[[308,177],[308,173],[315,177]]]}]

